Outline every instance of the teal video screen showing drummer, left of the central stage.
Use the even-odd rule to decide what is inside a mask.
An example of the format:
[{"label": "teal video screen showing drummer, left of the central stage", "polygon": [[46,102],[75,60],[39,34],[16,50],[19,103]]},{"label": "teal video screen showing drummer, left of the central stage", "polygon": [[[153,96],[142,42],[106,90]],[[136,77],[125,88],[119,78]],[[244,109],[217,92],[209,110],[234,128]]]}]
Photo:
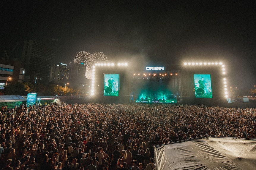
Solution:
[{"label": "teal video screen showing drummer, left of the central stage", "polygon": [[119,92],[119,75],[104,75],[104,96],[118,96]]}]

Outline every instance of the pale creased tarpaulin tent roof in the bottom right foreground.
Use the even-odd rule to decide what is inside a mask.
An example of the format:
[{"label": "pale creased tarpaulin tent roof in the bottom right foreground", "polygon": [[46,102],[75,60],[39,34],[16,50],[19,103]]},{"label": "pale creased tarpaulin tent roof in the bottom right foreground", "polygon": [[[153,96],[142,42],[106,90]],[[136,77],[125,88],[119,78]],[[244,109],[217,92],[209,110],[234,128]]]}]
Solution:
[{"label": "pale creased tarpaulin tent roof in the bottom right foreground", "polygon": [[256,140],[205,137],[154,147],[156,170],[256,169]]}]

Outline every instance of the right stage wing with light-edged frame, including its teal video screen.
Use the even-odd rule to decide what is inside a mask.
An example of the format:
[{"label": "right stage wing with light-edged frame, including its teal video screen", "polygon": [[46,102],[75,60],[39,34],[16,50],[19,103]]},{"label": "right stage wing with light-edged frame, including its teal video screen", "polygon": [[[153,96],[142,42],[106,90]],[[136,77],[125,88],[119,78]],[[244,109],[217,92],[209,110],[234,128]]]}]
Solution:
[{"label": "right stage wing with light-edged frame, including its teal video screen", "polygon": [[182,85],[184,103],[226,103],[227,78],[222,62],[184,62]]}]

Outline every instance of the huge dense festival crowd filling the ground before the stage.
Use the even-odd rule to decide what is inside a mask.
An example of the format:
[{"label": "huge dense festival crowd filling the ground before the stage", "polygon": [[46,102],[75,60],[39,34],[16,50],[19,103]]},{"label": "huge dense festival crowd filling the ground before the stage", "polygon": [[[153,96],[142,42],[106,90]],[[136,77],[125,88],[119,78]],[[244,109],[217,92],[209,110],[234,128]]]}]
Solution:
[{"label": "huge dense festival crowd filling the ground before the stage", "polygon": [[153,170],[154,145],[201,136],[256,138],[256,109],[74,104],[1,110],[0,166]]}]

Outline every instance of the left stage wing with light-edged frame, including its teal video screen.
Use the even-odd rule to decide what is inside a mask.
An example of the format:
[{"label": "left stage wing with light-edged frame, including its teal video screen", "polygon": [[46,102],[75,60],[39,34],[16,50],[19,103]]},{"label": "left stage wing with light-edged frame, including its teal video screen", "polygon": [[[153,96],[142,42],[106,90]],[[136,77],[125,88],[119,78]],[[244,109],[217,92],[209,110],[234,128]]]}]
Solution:
[{"label": "left stage wing with light-edged frame, including its teal video screen", "polygon": [[93,102],[129,103],[130,76],[127,66],[127,63],[97,63],[93,66]]}]

